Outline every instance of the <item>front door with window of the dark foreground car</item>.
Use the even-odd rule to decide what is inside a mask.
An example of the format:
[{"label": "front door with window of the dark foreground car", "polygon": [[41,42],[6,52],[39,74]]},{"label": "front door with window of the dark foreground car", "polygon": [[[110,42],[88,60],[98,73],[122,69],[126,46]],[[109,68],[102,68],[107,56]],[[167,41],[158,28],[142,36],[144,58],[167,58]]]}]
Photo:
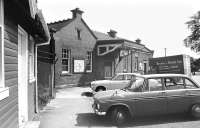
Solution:
[{"label": "front door with window of the dark foreground car", "polygon": [[161,78],[146,80],[143,92],[135,93],[133,109],[136,116],[157,115],[166,112],[166,95]]}]

